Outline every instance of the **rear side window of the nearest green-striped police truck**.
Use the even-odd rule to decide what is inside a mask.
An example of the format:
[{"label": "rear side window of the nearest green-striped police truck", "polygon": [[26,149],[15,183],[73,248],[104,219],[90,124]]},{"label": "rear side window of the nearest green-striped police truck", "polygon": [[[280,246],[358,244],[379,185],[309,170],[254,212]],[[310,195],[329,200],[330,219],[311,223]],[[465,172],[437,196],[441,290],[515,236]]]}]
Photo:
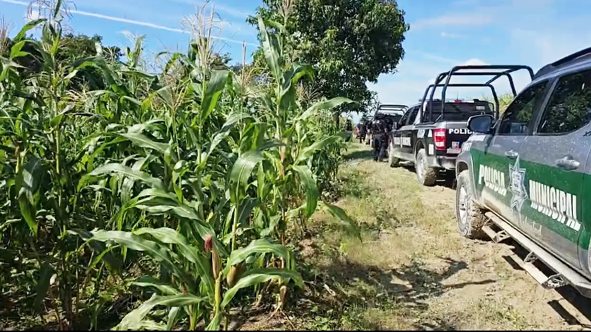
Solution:
[{"label": "rear side window of the nearest green-striped police truck", "polygon": [[591,121],[591,70],[558,80],[544,110],[538,133],[566,134]]}]

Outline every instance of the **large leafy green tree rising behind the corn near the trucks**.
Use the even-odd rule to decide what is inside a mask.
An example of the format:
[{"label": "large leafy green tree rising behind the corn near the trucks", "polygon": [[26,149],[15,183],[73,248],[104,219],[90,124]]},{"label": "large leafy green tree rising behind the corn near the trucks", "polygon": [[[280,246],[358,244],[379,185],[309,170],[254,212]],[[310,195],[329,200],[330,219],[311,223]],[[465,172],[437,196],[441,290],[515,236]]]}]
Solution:
[{"label": "large leafy green tree rising behind the corn near the trucks", "polygon": [[[344,107],[364,111],[373,97],[366,83],[394,72],[404,57],[402,41],[409,25],[394,0],[263,0],[263,4],[256,14],[282,22],[275,29],[282,32],[288,62],[315,67],[311,90],[321,96],[359,102]],[[256,17],[247,22],[256,25]],[[264,67],[261,48],[254,58],[256,67]]]}]

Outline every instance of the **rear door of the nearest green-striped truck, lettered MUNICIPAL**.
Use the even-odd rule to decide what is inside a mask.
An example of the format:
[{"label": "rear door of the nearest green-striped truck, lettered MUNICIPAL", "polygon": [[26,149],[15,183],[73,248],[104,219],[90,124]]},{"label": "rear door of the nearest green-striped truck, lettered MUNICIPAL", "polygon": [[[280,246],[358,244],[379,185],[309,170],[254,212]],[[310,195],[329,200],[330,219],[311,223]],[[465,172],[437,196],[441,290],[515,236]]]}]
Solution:
[{"label": "rear door of the nearest green-striped truck, lettered MUNICIPAL", "polygon": [[590,121],[591,70],[565,74],[519,152],[528,187],[521,210],[524,227],[533,228],[540,242],[577,267]]}]

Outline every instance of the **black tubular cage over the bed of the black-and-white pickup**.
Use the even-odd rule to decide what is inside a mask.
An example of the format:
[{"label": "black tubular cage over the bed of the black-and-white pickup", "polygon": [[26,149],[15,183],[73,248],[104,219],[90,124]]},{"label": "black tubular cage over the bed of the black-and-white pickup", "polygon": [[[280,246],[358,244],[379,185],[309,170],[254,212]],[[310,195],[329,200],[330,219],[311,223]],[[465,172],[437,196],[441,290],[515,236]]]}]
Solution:
[{"label": "black tubular cage over the bed of the black-and-white pickup", "polygon": [[[495,80],[499,79],[502,76],[506,76],[509,80],[509,86],[511,86],[511,92],[513,96],[517,96],[517,91],[515,90],[515,84],[513,82],[513,77],[511,73],[514,73],[518,70],[527,70],[530,74],[530,79],[534,79],[534,71],[531,69],[530,66],[523,66],[523,65],[499,65],[499,64],[489,64],[489,65],[482,65],[482,66],[455,66],[450,71],[445,71],[437,75],[437,79],[435,80],[434,84],[431,84],[425,90],[425,94],[423,95],[423,103],[421,104],[421,109],[423,108],[424,101],[427,98],[427,93],[431,87],[431,95],[429,96],[429,106],[433,103],[433,97],[435,96],[435,90],[437,87],[443,87],[441,90],[441,100],[446,100],[446,91],[448,86],[456,86],[456,87],[489,87],[492,90],[492,95],[495,98],[496,109],[495,109],[495,119],[498,118],[499,115],[499,99],[495,92],[495,87],[492,86],[492,83]],[[476,71],[462,71],[462,70],[476,70]],[[502,70],[502,71],[493,71],[493,70]],[[486,83],[458,83],[458,84],[450,84],[450,80],[452,76],[493,76],[492,79],[486,81]],[[445,83],[441,84],[441,81],[445,79]],[[441,116],[443,116],[443,109],[444,103],[441,103]],[[424,117],[424,113],[423,113]],[[429,107],[429,119],[433,119],[433,108]]]}]

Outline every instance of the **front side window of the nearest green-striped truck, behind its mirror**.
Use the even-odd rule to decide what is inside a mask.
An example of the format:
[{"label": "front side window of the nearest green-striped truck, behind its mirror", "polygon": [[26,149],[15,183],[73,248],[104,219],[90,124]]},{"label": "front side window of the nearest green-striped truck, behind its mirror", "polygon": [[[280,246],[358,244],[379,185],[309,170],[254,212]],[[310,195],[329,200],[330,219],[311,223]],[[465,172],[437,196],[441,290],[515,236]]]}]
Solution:
[{"label": "front side window of the nearest green-striped truck, behind its mirror", "polygon": [[513,100],[502,115],[499,135],[527,135],[535,107],[544,97],[548,81],[528,87]]}]

